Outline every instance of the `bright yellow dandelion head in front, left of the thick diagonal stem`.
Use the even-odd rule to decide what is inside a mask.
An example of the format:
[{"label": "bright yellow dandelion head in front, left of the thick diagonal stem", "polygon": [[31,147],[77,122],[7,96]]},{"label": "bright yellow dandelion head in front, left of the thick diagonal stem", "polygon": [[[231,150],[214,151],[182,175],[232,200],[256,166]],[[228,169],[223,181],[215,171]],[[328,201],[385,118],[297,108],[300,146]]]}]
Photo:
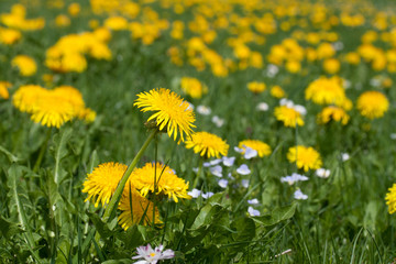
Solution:
[{"label": "bright yellow dandelion head in front, left of the thick diagonal stem", "polygon": [[95,201],[95,207],[98,207],[99,202],[103,207],[109,204],[127,168],[127,165],[113,162],[97,166],[82,184],[82,193],[88,194],[86,201]]}]

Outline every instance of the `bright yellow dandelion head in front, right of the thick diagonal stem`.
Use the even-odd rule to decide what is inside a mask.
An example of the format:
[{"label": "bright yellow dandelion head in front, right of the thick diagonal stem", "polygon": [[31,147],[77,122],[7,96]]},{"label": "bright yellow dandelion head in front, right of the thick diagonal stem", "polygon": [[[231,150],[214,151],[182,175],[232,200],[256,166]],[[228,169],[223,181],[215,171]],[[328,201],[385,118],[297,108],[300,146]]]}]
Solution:
[{"label": "bright yellow dandelion head in front, right of the thick diagonal stem", "polygon": [[155,195],[166,195],[176,202],[178,202],[178,198],[191,198],[187,194],[188,184],[177,177],[172,168],[160,163],[156,164],[156,168],[154,163],[146,163],[142,168],[135,168],[129,182],[132,183],[136,190],[144,197],[146,197],[148,193],[153,194],[156,190]]}]

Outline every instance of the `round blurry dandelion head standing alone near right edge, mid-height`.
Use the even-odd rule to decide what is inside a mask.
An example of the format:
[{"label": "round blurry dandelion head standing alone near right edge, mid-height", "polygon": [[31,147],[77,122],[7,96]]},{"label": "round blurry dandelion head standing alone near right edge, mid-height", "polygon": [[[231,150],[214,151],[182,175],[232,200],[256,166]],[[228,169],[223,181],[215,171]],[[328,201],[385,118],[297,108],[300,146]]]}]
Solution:
[{"label": "round blurry dandelion head standing alone near right edge, mid-height", "polygon": [[380,91],[365,91],[358,98],[356,108],[363,117],[376,119],[388,110],[389,101]]}]

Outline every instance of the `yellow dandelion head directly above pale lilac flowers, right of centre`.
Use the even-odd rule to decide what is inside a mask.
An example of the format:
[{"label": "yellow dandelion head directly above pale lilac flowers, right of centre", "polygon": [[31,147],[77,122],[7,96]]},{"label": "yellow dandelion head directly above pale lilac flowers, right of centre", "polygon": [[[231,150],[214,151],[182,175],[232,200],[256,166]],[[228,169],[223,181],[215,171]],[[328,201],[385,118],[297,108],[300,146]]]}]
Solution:
[{"label": "yellow dandelion head directly above pale lilac flowers, right of centre", "polygon": [[298,145],[297,147],[290,147],[287,153],[287,160],[290,163],[296,163],[298,168],[304,168],[304,172],[318,169],[322,165],[320,154],[310,146]]}]

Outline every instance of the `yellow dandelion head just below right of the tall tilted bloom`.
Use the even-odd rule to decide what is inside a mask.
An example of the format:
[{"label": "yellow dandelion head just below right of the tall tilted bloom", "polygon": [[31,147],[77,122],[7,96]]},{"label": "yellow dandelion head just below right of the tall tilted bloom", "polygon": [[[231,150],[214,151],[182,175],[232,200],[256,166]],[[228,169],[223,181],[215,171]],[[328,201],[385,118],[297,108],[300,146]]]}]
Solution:
[{"label": "yellow dandelion head just below right of the tall tilted bloom", "polygon": [[186,141],[187,148],[194,148],[195,153],[200,153],[205,157],[227,156],[229,145],[221,138],[208,132],[197,132],[191,139]]}]

